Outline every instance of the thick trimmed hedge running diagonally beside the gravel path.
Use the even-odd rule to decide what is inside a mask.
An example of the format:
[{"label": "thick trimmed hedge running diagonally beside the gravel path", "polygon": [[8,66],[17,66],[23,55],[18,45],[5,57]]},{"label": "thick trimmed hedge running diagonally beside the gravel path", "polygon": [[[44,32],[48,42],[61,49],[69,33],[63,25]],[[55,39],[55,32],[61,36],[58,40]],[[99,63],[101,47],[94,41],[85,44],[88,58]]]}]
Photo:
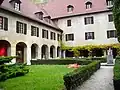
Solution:
[{"label": "thick trimmed hedge running diagonally beside the gravel path", "polygon": [[73,72],[64,75],[64,85],[67,90],[74,90],[87,80],[95,71],[100,68],[99,61],[93,61],[92,63],[80,67]]}]

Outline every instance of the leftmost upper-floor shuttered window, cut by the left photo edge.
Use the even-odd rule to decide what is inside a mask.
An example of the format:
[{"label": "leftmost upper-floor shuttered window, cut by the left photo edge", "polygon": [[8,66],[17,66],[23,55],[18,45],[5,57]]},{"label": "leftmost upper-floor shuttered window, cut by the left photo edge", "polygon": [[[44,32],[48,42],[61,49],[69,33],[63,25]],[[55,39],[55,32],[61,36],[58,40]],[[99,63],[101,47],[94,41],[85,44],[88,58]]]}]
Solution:
[{"label": "leftmost upper-floor shuttered window, cut by the left photo edge", "polygon": [[8,30],[8,18],[0,16],[0,29]]}]

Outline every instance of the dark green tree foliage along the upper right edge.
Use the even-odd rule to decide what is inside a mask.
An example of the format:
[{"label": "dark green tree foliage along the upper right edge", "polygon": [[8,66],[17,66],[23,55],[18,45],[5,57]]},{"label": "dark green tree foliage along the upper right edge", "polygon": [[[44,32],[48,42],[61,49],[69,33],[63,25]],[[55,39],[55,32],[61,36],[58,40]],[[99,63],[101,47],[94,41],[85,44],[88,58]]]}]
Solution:
[{"label": "dark green tree foliage along the upper right edge", "polygon": [[118,41],[120,42],[120,0],[113,0],[113,17],[117,30]]}]

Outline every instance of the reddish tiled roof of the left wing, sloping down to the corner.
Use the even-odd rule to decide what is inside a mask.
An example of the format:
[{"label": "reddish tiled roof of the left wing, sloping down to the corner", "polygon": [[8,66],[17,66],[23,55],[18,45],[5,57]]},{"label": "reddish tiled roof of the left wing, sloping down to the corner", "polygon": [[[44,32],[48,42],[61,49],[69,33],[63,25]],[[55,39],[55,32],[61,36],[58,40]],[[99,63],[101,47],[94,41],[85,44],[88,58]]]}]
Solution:
[{"label": "reddish tiled roof of the left wing, sloping down to the corner", "polygon": [[9,3],[9,1],[10,0],[4,0],[0,7],[6,9],[8,11],[14,12],[16,14],[28,17],[28,18],[33,19],[33,20],[36,20],[37,22],[40,22],[40,23],[45,24],[47,26],[53,27],[55,29],[59,29],[57,27],[57,25],[55,25],[53,22],[47,23],[44,20],[40,20],[40,19],[37,18],[36,15],[35,15],[36,12],[42,11],[45,16],[48,15],[48,14],[45,12],[44,9],[41,9],[36,4],[33,4],[30,0],[20,0],[22,2],[21,7],[20,7],[21,8],[20,12],[16,11],[13,8],[13,6]]}]

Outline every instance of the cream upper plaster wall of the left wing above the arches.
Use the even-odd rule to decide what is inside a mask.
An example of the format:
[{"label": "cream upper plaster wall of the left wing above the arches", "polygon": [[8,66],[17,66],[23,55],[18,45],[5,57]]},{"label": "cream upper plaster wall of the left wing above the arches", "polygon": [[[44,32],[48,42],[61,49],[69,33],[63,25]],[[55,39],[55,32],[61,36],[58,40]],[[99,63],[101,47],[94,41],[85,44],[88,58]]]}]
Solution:
[{"label": "cream upper plaster wall of the left wing above the arches", "polygon": [[[42,46],[46,44],[48,46],[54,45],[59,46],[59,42],[57,41],[57,34],[60,34],[59,31],[56,31],[53,28],[49,28],[45,25],[32,22],[31,20],[16,17],[8,13],[1,13],[0,16],[4,16],[8,18],[8,31],[0,30],[0,40],[8,40],[11,44],[17,44],[18,42],[24,42],[26,45],[31,46],[33,43],[36,43],[38,46]],[[16,21],[20,21],[27,24],[27,34],[16,33]],[[39,37],[31,36],[31,25],[39,27]],[[42,29],[48,30],[49,39],[42,38]],[[50,31],[56,33],[56,40],[50,39]]]}]

